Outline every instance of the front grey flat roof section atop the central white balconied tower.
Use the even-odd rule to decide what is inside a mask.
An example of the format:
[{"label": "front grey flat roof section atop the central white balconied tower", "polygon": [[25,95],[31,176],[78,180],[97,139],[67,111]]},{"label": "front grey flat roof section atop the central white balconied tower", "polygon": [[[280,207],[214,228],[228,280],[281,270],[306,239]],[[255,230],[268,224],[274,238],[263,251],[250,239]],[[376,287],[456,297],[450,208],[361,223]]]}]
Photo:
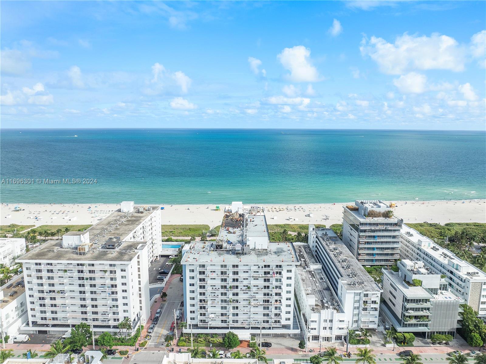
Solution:
[{"label": "front grey flat roof section atop the central white balconied tower", "polygon": [[[249,249],[241,244],[218,241],[191,241],[182,257],[181,264],[239,263],[260,264],[265,262],[296,264],[294,250],[287,242],[270,242],[268,249]],[[241,252],[241,253],[240,253]]]}]

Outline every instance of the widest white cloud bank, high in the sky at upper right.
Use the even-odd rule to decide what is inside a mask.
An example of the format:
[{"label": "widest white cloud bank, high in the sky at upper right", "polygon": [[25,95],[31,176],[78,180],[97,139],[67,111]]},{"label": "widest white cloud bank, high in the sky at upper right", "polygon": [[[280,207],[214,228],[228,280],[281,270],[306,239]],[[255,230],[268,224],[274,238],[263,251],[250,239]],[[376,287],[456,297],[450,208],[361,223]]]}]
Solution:
[{"label": "widest white cloud bank, high in the sky at upper right", "polygon": [[466,49],[450,36],[438,33],[409,36],[404,33],[388,43],[383,38],[363,38],[362,55],[369,55],[383,73],[401,74],[410,70],[463,71]]}]

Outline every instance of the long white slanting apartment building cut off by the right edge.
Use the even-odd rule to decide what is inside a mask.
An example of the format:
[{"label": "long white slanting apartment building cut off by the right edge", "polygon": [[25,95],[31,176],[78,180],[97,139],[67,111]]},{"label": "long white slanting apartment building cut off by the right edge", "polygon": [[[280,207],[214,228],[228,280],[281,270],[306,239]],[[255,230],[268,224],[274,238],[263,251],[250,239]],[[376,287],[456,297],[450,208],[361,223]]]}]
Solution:
[{"label": "long white slanting apartment building cut off by the right edge", "polygon": [[486,273],[435,244],[407,225],[401,229],[401,257],[421,260],[434,273],[445,275],[448,287],[486,317]]}]

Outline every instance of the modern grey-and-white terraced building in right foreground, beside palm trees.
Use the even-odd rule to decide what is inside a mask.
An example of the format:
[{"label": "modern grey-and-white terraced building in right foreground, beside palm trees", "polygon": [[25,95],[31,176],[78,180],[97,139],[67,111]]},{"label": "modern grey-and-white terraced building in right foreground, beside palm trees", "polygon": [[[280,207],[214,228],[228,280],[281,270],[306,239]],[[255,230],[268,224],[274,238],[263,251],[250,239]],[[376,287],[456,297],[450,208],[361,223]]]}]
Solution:
[{"label": "modern grey-and-white terraced building in right foreground, beside palm trees", "polygon": [[[414,332],[429,338],[433,334],[454,336],[462,320],[465,301],[448,290],[440,274],[421,261],[403,259],[399,271],[382,269],[385,321],[398,332]],[[413,282],[419,283],[418,286]]]}]

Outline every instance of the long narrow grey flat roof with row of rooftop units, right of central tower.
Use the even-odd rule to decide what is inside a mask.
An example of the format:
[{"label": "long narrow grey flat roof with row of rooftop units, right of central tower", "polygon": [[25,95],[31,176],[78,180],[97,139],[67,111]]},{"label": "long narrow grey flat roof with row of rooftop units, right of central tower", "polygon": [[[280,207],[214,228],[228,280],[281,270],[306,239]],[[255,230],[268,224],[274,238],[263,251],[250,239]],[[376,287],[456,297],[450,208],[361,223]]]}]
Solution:
[{"label": "long narrow grey flat roof with row of rooftop units, right of central tower", "polygon": [[343,241],[331,229],[315,229],[317,238],[341,275],[347,290],[381,291],[375,280],[364,270]]}]

